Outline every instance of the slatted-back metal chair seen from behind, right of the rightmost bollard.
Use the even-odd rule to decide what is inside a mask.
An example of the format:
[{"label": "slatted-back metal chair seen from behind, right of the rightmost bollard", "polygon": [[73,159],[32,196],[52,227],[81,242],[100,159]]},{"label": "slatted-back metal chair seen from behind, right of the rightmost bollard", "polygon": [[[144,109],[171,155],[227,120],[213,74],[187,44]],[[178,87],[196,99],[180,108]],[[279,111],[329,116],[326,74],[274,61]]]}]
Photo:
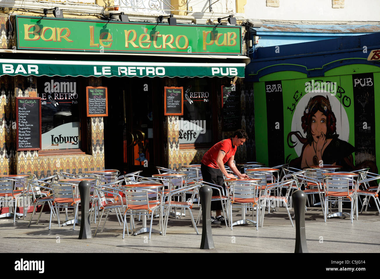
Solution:
[{"label": "slatted-back metal chair seen from behind, right of the rightmost bollard", "polygon": [[[345,216],[347,213],[345,212],[337,212],[331,215],[328,215],[328,203],[330,202],[338,202],[341,203],[343,201],[350,201],[351,211],[350,211],[350,219],[351,223],[353,223],[353,215],[354,210],[356,208],[356,216],[358,215],[358,207],[356,206],[356,181],[347,177],[336,177],[330,176],[322,179],[323,187],[325,191],[325,222],[327,218],[334,216]],[[352,189],[350,189],[350,185],[352,185]],[[331,209],[330,209],[331,210]],[[348,214],[347,214],[348,215]],[[356,217],[357,218],[357,217]]]}]

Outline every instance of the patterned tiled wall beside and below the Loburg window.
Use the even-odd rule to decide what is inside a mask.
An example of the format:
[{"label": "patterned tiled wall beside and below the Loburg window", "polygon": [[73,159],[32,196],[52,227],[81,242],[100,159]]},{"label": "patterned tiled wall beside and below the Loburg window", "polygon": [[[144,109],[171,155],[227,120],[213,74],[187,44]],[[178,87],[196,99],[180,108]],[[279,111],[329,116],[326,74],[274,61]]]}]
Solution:
[{"label": "patterned tiled wall beside and below the Loburg window", "polygon": [[[100,79],[89,78],[89,86],[101,85]],[[36,78],[15,76],[14,94],[12,104],[16,97],[28,97],[29,91],[36,91]],[[15,119],[16,108],[12,107],[12,116]],[[56,171],[78,174],[86,170],[100,170],[104,168],[104,124],[103,117],[87,117],[87,138],[89,153],[80,155],[54,155],[39,156],[38,151],[19,151],[16,158],[17,173],[34,173],[37,177],[50,176]],[[13,133],[13,146],[15,147],[15,133]],[[11,172],[11,171],[9,171]]]}]

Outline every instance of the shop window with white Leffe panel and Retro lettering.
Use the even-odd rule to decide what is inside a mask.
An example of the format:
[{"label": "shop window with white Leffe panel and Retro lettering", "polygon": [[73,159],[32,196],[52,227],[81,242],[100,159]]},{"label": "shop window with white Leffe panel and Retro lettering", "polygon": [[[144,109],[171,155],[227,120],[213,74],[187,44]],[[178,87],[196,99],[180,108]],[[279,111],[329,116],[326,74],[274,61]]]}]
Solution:
[{"label": "shop window with white Leffe panel and Retro lettering", "polygon": [[[182,82],[184,81],[184,82]],[[216,99],[209,79],[182,80],[184,115],[179,116],[180,148],[204,147],[212,144],[212,103]]]}]

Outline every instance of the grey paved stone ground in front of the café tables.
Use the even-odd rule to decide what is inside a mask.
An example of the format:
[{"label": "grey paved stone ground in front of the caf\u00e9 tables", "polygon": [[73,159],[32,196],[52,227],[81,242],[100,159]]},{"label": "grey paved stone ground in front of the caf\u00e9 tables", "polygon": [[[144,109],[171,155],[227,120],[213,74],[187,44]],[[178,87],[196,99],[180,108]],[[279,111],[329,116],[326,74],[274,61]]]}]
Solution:
[{"label": "grey paved stone ground in front of the caf\u00e9 tables", "polygon": [[[198,207],[193,208],[196,218]],[[347,209],[346,209],[347,210]],[[306,212],[306,238],[311,253],[374,253],[380,252],[380,217],[375,208],[359,214],[359,220],[351,224],[348,218],[333,218],[323,222],[320,208],[309,208]],[[234,220],[240,213],[234,212]],[[293,212],[291,211],[293,216]],[[213,226],[212,233],[215,249],[200,250],[202,225],[198,225],[199,235],[192,227],[188,216],[182,219],[169,219],[166,236],[147,234],[125,236],[122,239],[122,227],[114,214],[110,214],[103,233],[92,239],[78,239],[79,226],[58,227],[57,219],[52,220],[49,230],[49,213],[44,212],[40,224],[34,222],[28,228],[28,220],[0,219],[0,251],[18,253],[38,252],[113,252],[113,253],[162,253],[162,252],[269,252],[293,253],[295,244],[295,228],[291,227],[285,208],[279,212],[265,215],[264,227],[241,225],[226,228]],[[63,219],[61,215],[61,220]],[[102,220],[103,223],[103,220]],[[129,223],[128,223],[129,224]],[[136,226],[140,223],[136,220]],[[92,224],[92,233],[96,225]],[[158,219],[154,219],[154,228],[158,228]]]}]

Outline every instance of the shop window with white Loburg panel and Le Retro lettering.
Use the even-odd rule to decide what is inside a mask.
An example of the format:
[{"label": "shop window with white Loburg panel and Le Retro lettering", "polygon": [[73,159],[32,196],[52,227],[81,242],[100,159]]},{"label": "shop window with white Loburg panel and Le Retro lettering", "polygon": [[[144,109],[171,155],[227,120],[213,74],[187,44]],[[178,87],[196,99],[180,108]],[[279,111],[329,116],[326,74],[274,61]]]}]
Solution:
[{"label": "shop window with white Loburg panel and Le Retro lettering", "polygon": [[[81,98],[76,78],[39,77],[42,151],[81,152]],[[49,152],[47,152],[49,153]]]}]

